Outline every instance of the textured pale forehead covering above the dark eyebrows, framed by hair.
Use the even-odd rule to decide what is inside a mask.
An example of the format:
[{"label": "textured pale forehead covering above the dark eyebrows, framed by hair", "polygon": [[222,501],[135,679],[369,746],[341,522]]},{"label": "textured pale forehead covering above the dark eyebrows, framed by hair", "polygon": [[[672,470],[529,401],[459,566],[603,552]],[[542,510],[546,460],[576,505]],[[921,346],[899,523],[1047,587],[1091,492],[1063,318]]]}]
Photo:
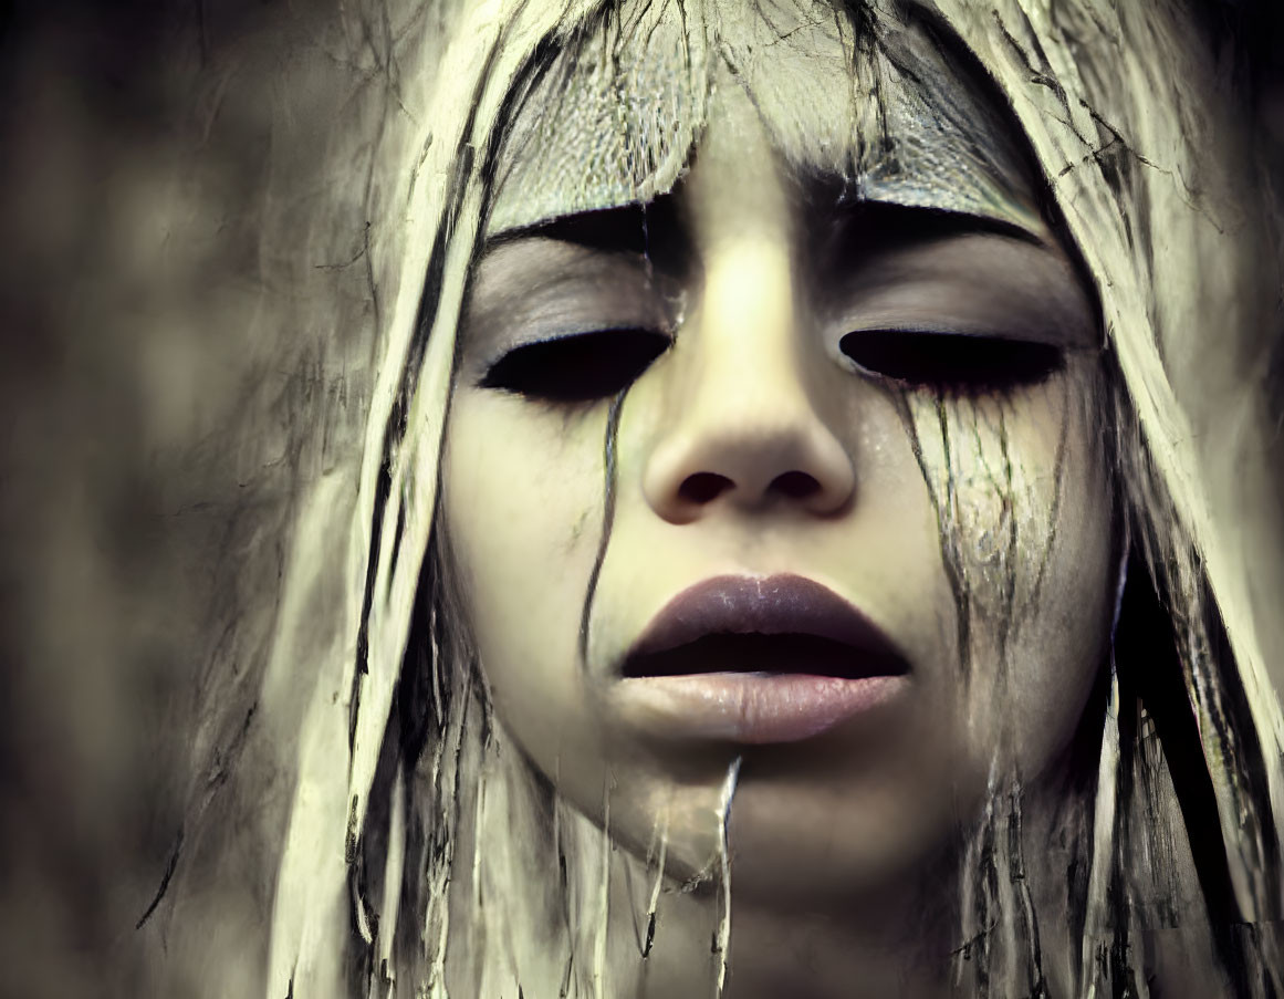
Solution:
[{"label": "textured pale forehead covering above the dark eyebrows, framed by hair", "polygon": [[930,24],[828,3],[624,3],[565,39],[516,104],[488,235],[646,202],[698,150],[719,87],[742,87],[800,175],[856,198],[1045,225],[1027,157],[990,87]]}]

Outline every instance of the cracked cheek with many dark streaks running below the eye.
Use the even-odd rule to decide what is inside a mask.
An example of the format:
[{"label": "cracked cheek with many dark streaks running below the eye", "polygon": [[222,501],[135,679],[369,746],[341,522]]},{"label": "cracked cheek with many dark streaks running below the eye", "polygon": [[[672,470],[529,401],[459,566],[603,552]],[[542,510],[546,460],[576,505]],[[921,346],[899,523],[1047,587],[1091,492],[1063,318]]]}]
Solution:
[{"label": "cracked cheek with many dark streaks running below the eye", "polygon": [[1112,515],[1082,376],[1009,401],[912,401],[957,607],[969,756],[1035,776],[1070,742],[1102,666]]}]

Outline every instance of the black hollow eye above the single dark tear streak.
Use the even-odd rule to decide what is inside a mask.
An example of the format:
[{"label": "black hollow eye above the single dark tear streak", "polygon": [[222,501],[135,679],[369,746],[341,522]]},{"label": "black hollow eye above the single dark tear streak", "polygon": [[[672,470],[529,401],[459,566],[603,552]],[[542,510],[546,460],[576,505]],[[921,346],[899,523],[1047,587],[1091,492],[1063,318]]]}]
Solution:
[{"label": "black hollow eye above the single dark tear streak", "polygon": [[594,402],[627,389],[670,343],[663,333],[639,329],[537,340],[503,354],[479,384],[542,402]]}]

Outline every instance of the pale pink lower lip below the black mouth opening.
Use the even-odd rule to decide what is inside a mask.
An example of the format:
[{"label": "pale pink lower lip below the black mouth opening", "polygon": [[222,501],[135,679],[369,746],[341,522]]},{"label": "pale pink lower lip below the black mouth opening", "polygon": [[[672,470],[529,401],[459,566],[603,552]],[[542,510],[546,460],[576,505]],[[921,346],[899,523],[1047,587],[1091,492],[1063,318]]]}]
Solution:
[{"label": "pale pink lower lip below the black mouth opening", "polygon": [[799,742],[889,704],[908,677],[805,673],[637,677],[616,684],[625,722],[663,736],[745,745]]}]

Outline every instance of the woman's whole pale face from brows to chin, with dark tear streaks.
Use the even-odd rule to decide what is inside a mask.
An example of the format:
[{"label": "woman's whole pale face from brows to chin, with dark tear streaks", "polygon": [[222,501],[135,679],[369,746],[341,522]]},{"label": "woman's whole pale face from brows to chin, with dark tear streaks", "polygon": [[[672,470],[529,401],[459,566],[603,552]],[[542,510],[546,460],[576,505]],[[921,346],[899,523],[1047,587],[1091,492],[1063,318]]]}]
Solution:
[{"label": "woman's whole pale face from brows to chin, with dark tear streaks", "polygon": [[[1097,324],[1057,239],[836,198],[786,164],[781,67],[720,74],[646,212],[492,241],[444,512],[498,718],[560,792],[598,822],[609,800],[639,851],[664,830],[691,873],[738,759],[737,892],[819,898],[949,842],[994,760],[1059,760],[1112,525]],[[948,190],[937,168],[910,180]]]}]

